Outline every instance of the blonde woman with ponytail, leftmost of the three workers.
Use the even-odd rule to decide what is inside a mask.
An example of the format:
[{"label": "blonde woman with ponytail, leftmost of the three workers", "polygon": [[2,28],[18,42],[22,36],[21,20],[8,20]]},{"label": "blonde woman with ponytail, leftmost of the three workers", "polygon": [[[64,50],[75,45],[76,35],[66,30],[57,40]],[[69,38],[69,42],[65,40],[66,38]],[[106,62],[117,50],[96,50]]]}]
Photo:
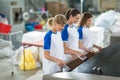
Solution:
[{"label": "blonde woman with ponytail, leftmost of the three workers", "polygon": [[67,20],[64,15],[58,14],[48,21],[51,30],[44,37],[44,74],[59,72],[61,67],[65,65],[64,47],[60,31],[64,28]]}]

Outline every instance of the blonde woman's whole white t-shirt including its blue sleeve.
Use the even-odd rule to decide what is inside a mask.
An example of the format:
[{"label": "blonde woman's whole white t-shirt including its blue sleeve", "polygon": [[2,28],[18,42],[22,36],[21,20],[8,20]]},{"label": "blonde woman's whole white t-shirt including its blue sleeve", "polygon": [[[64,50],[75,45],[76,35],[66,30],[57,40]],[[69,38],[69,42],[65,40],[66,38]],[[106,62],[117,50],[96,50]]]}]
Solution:
[{"label": "blonde woman's whole white t-shirt including its blue sleeve", "polygon": [[[64,47],[60,32],[53,33],[52,31],[49,31],[46,33],[44,37],[44,51],[49,51],[50,55],[55,58],[65,60]],[[45,74],[55,73],[60,70],[61,68],[57,63],[46,58],[43,59],[43,71]]]}]

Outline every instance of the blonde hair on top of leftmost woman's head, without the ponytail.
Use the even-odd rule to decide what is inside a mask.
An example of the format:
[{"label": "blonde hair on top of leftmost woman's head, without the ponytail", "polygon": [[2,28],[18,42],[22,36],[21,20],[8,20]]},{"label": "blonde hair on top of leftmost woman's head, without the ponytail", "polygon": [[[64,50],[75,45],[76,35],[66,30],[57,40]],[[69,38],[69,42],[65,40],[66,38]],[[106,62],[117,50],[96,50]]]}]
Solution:
[{"label": "blonde hair on top of leftmost woman's head, without the ponytail", "polygon": [[64,15],[58,14],[58,15],[56,15],[56,16],[54,17],[53,23],[54,23],[54,22],[56,22],[56,23],[58,23],[58,24],[60,24],[60,25],[64,25],[64,24],[67,23],[67,19],[66,19],[66,17],[65,17]]}]

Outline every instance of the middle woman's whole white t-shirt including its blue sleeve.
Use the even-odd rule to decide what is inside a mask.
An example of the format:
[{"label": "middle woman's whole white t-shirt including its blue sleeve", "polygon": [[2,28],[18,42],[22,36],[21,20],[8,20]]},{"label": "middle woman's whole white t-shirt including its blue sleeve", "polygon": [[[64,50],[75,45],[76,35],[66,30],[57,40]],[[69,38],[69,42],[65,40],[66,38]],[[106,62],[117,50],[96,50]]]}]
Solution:
[{"label": "middle woman's whole white t-shirt including its blue sleeve", "polygon": [[[79,41],[79,34],[75,25],[69,26],[68,24],[65,25],[64,29],[62,30],[62,40],[66,42],[68,47],[73,50],[78,50],[78,41]],[[72,56],[66,54],[66,60],[71,60]]]}]

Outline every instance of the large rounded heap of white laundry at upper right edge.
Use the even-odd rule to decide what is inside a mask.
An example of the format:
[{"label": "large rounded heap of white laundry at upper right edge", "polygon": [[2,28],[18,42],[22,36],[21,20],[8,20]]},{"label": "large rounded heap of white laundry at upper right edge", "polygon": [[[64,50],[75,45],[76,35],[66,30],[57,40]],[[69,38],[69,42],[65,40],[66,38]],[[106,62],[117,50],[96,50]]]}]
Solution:
[{"label": "large rounded heap of white laundry at upper right edge", "polygon": [[112,33],[120,32],[120,12],[109,10],[102,13],[95,19],[94,26],[103,27]]}]

